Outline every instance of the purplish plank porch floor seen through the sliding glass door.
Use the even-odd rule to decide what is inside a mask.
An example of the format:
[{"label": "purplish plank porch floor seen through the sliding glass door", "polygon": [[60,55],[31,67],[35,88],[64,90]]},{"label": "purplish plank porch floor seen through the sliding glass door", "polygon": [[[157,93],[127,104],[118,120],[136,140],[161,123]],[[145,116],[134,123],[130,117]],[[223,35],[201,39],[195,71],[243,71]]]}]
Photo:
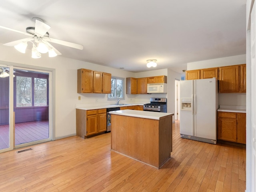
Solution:
[{"label": "purplish plank porch floor seen through the sliding glass door", "polygon": [[[49,137],[48,121],[30,121],[15,124],[15,145],[47,139]],[[0,149],[8,148],[9,125],[0,125]]]}]

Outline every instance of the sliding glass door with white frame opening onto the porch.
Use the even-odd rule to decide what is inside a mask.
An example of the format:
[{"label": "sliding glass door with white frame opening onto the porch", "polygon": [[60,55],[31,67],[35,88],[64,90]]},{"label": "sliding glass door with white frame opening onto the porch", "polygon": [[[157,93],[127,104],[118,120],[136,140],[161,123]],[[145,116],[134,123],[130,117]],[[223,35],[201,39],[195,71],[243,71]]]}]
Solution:
[{"label": "sliding glass door with white frame opening onto the porch", "polygon": [[0,152],[52,140],[51,78],[51,71],[0,65]]}]

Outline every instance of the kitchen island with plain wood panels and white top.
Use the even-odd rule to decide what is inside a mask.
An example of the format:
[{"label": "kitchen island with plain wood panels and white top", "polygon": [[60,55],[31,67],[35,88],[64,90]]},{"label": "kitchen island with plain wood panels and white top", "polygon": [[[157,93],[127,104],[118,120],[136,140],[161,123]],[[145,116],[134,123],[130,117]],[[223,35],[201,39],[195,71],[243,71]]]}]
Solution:
[{"label": "kitchen island with plain wood panels and white top", "polygon": [[111,111],[111,150],[156,168],[170,159],[173,113]]}]

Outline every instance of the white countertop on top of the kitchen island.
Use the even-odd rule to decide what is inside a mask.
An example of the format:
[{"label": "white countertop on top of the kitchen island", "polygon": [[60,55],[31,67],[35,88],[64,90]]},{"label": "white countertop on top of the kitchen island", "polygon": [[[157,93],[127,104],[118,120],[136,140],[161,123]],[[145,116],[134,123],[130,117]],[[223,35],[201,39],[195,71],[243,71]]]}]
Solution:
[{"label": "white countertop on top of the kitchen island", "polygon": [[138,111],[138,110],[119,110],[119,111],[110,111],[109,113],[114,115],[124,115],[124,116],[130,116],[130,117],[140,117],[145,119],[156,119],[159,120],[162,117],[168,116],[168,115],[174,115],[174,113],[161,113],[161,112],[155,112],[155,111]]}]

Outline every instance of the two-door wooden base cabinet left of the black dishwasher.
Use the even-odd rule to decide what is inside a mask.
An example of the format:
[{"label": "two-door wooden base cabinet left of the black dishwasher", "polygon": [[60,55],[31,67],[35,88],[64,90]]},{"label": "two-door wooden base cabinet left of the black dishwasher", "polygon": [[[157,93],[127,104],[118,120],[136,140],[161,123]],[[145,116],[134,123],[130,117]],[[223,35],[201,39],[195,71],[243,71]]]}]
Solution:
[{"label": "two-door wooden base cabinet left of the black dishwasher", "polygon": [[106,109],[76,109],[76,135],[88,137],[107,130]]}]

